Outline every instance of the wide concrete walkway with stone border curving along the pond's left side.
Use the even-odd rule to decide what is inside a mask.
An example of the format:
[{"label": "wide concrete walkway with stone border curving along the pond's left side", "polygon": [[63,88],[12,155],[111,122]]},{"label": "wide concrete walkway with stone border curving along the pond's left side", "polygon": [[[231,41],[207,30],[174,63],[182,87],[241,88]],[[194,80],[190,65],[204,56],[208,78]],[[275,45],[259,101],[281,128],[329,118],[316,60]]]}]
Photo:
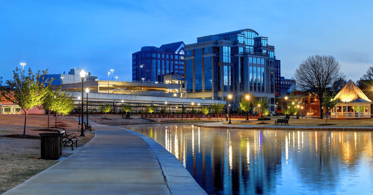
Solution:
[{"label": "wide concrete walkway with stone border curving along the pond's left side", "polygon": [[95,128],[90,142],[4,195],[206,194],[153,139],[89,122]]}]

